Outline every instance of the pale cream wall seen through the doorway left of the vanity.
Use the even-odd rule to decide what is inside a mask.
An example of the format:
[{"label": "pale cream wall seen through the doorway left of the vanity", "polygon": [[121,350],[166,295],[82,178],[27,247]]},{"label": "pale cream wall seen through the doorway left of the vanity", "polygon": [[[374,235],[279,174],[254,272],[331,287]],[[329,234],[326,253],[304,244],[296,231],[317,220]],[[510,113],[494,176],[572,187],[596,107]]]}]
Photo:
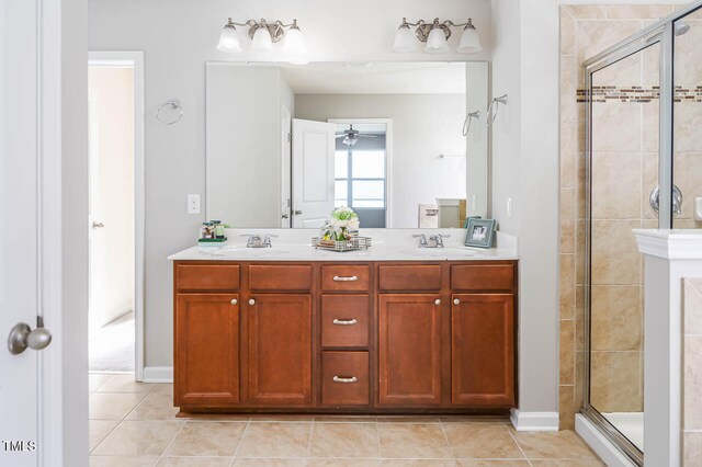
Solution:
[{"label": "pale cream wall seen through the doorway left of the vanity", "polygon": [[[94,99],[91,115],[92,162],[90,209],[90,328],[95,329],[134,309],[134,69],[90,67],[88,86]],[[97,173],[95,173],[97,172]]]}]

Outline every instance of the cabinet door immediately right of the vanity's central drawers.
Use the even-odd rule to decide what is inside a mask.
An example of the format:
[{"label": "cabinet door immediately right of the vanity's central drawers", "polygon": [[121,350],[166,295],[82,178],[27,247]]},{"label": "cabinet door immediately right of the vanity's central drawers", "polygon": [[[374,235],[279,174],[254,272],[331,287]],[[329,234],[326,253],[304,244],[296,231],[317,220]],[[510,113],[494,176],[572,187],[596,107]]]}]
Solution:
[{"label": "cabinet door immediately right of the vanity's central drawers", "polygon": [[380,295],[381,406],[441,403],[442,306],[439,298],[439,294]]}]

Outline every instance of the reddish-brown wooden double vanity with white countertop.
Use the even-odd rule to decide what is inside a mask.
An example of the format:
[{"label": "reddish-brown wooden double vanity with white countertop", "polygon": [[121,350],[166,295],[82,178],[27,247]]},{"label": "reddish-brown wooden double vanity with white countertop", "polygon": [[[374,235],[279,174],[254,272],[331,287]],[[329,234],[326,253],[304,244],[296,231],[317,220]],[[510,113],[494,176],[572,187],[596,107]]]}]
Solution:
[{"label": "reddish-brown wooden double vanity with white countertop", "polygon": [[448,248],[171,257],[182,412],[502,412],[517,260]]}]

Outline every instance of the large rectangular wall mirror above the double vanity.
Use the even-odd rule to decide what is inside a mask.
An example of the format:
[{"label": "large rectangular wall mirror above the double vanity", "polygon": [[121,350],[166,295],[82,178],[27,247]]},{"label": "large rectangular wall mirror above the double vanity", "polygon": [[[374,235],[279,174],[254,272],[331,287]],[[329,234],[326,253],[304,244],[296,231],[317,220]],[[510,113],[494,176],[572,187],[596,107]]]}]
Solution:
[{"label": "large rectangular wall mirror above the double vanity", "polygon": [[[206,215],[237,228],[486,217],[486,62],[206,66]],[[469,123],[469,130],[465,130]]]}]

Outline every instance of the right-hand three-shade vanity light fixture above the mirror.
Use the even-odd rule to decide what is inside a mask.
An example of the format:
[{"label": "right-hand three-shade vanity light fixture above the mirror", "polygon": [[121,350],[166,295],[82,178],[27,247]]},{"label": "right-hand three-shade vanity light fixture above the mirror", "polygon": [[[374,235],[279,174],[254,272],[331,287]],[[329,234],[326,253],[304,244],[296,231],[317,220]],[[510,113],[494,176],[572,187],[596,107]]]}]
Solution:
[{"label": "right-hand three-shade vanity light fixture above the mirror", "polygon": [[[412,27],[417,26],[412,33]],[[426,43],[424,52],[430,54],[443,54],[449,52],[449,45],[446,42],[451,37],[451,27],[463,27],[461,34],[461,41],[456,52],[460,54],[475,54],[480,52],[480,38],[473,25],[473,20],[468,19],[466,23],[456,24],[451,20],[439,21],[434,18],[434,21],[427,23],[424,20],[419,20],[416,23],[408,23],[406,18],[403,18],[403,23],[397,29],[395,34],[395,41],[393,42],[393,52],[409,53],[417,50],[417,43],[415,38]]]}]

